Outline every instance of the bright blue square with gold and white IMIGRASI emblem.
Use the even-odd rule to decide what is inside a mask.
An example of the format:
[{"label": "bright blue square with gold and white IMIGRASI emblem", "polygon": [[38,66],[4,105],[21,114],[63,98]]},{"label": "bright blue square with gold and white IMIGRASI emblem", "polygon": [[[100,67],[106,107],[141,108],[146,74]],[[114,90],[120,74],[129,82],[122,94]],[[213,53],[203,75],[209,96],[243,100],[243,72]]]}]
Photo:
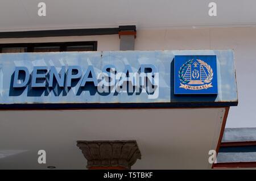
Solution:
[{"label": "bright blue square with gold and white IMIGRASI emblem", "polygon": [[218,94],[215,55],[175,56],[174,94]]}]

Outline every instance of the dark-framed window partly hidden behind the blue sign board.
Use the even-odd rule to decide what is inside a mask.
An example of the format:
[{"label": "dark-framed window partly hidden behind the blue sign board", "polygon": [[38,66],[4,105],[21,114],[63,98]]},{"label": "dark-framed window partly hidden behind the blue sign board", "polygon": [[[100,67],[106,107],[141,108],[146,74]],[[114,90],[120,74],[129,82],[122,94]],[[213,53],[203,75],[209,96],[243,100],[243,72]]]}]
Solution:
[{"label": "dark-framed window partly hidden behind the blue sign board", "polygon": [[97,51],[97,41],[0,44],[1,53]]}]

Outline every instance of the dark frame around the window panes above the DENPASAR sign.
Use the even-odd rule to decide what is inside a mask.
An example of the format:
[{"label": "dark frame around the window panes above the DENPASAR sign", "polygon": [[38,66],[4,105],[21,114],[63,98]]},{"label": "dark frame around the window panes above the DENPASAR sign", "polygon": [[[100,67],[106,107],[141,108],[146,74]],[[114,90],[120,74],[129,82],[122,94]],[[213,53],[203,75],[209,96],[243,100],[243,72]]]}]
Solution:
[{"label": "dark frame around the window panes above the DENPASAR sign", "polygon": [[0,53],[2,48],[27,48],[27,52],[34,52],[35,47],[60,47],[60,52],[67,51],[68,46],[93,46],[92,51],[97,51],[97,41],[67,41],[67,42],[49,42],[49,43],[6,43],[0,44]]}]

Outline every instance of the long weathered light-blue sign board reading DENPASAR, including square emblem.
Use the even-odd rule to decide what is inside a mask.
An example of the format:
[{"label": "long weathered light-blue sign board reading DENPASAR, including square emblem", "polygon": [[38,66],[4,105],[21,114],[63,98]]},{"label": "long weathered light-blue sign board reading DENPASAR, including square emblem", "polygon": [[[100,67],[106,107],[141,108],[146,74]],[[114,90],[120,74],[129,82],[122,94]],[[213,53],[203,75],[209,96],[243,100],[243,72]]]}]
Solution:
[{"label": "long weathered light-blue sign board reading DENPASAR, including square emblem", "polygon": [[2,108],[117,103],[234,106],[237,101],[232,50],[0,53]]}]

